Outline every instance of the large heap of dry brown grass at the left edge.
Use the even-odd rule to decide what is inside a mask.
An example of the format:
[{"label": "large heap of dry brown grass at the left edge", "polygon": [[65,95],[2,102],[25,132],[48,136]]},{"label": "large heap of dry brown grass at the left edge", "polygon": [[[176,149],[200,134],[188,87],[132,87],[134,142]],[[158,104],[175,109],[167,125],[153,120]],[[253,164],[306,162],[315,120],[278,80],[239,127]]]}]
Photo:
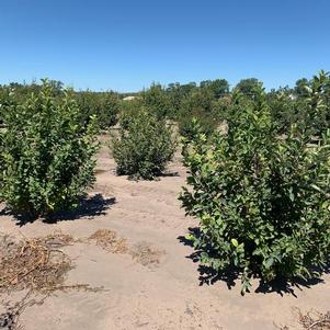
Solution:
[{"label": "large heap of dry brown grass at the left edge", "polygon": [[0,291],[43,291],[62,285],[72,265],[69,257],[58,248],[71,241],[70,236],[60,234],[19,242],[4,237],[1,243],[5,250],[0,259]]}]

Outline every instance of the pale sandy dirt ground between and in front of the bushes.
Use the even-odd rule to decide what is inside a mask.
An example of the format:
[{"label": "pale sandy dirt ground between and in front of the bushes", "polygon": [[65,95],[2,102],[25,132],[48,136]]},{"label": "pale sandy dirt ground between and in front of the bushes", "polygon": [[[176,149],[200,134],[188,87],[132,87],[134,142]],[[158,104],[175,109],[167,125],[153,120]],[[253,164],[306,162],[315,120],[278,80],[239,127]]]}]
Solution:
[{"label": "pale sandy dirt ground between and in front of the bushes", "polygon": [[[56,292],[43,305],[24,310],[24,329],[271,330],[284,325],[296,329],[295,308],[322,312],[330,309],[329,274],[319,283],[287,291],[254,292],[255,283],[243,297],[239,282],[203,284],[198,264],[189,258],[193,249],[180,240],[197,223],[185,217],[177,198],[185,182],[179,156],[168,175],[156,182],[128,181],[116,177],[114,169],[113,159],[103,148],[91,200],[78,213],[53,223],[36,220],[25,225],[2,215],[0,231],[19,238],[61,230],[79,239],[98,229],[113,229],[130,247],[144,242],[159,253],[151,262],[140,263],[129,253],[111,253],[83,241],[64,248],[75,263],[66,283],[88,283],[104,289]],[[11,294],[1,298],[15,301],[18,297]]]}]

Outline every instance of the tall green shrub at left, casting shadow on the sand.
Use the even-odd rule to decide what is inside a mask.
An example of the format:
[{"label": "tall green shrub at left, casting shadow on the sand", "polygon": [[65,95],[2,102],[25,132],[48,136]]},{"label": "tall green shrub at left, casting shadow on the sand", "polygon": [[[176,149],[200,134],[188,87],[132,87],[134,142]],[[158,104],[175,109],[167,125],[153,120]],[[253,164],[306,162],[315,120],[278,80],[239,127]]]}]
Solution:
[{"label": "tall green shrub at left, casting shadow on the sand", "polygon": [[94,181],[95,118],[80,125],[70,91],[55,99],[47,80],[22,104],[12,93],[5,106],[0,198],[33,216],[77,205]]}]

